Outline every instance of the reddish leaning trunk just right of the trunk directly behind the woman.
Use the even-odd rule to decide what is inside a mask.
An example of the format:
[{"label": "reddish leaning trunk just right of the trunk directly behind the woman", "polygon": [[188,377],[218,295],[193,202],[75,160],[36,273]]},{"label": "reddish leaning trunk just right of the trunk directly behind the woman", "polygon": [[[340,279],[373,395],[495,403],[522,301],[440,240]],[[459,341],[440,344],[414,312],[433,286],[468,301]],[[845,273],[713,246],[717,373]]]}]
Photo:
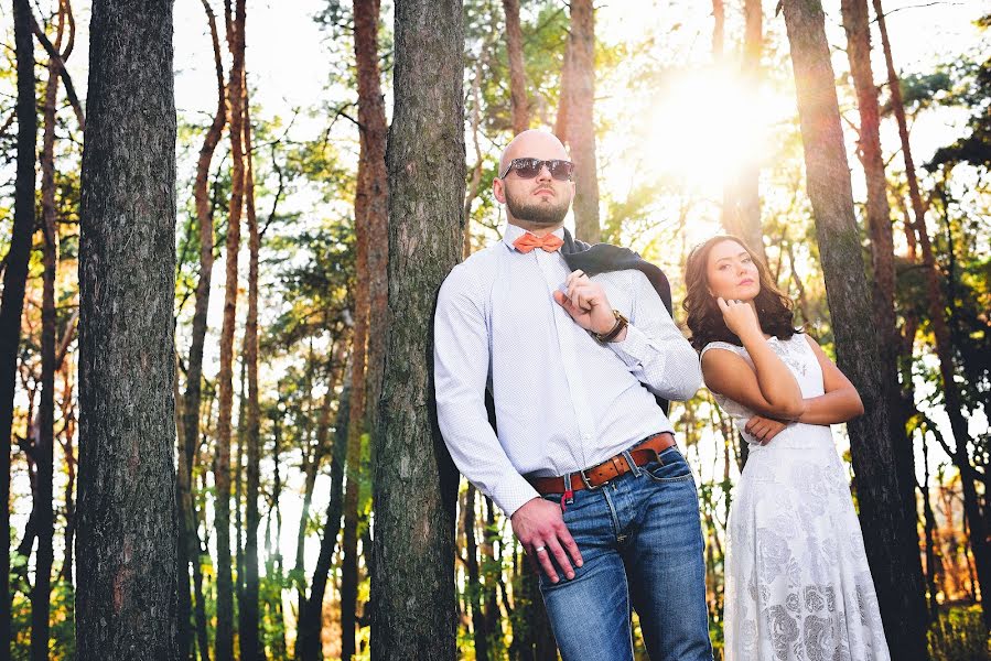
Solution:
[{"label": "reddish leaning trunk just right of the trunk directly behind the woman", "polygon": [[[880,106],[877,87],[871,71],[871,26],[866,0],[842,0],[840,10],[847,32],[847,57],[857,91],[860,112],[858,155],[866,180],[866,225],[871,237],[871,263],[873,272],[873,319],[881,338],[881,367],[884,394],[888,399],[891,437],[898,486],[902,491],[902,511],[907,524],[914,525],[918,517],[915,498],[915,460],[912,437],[905,433],[906,411],[898,387],[898,329],[895,325],[895,261],[891,207],[887,204],[887,178],[881,153]],[[911,382],[906,383],[912,388]]]}]

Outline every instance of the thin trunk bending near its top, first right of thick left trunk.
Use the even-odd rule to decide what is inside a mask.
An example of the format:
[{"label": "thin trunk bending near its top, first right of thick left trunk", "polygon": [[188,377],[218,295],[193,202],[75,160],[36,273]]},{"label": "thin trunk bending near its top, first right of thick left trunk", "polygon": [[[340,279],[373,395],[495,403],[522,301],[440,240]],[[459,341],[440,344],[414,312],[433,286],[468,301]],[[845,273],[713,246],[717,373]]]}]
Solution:
[{"label": "thin trunk bending near its top, first right of thick left trunk", "polygon": [[[211,275],[214,266],[214,220],[211,199],[207,191],[209,166],[214,151],[220,142],[224,124],[227,123],[227,101],[225,98],[224,68],[220,57],[220,39],[217,34],[217,20],[207,0],[203,0],[203,9],[209,25],[211,41],[214,48],[214,67],[217,75],[217,109],[214,120],[203,139],[200,158],[196,162],[196,180],[193,184],[193,198],[196,205],[196,220],[200,224],[200,277],[196,281],[196,304],[193,313],[192,343],[186,370],[186,391],[183,398],[182,444],[185,452],[180,452],[179,494],[181,501],[181,539],[185,553],[184,562],[193,565],[193,592],[196,597],[195,620],[196,640],[201,659],[209,659],[209,647],[206,633],[206,609],[203,598],[203,576],[200,567],[200,534],[196,527],[195,500],[192,497],[193,457],[200,441],[200,402],[203,381],[203,347],[206,339],[206,312],[209,307]],[[183,460],[184,459],[184,460]],[[180,576],[181,589],[188,589],[186,574]],[[188,627],[180,624],[180,646],[183,650],[192,648]]]}]

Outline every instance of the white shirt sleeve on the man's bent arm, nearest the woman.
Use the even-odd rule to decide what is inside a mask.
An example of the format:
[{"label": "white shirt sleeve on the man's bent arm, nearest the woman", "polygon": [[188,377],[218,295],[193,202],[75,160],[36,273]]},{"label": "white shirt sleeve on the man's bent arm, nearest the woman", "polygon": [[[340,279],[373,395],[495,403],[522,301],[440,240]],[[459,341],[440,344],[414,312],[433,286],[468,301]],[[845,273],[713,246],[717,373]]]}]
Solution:
[{"label": "white shirt sleeve on the man's bent arm, nearest the woman", "polygon": [[631,277],[633,304],[626,337],[608,346],[650,392],[689,400],[702,386],[699,358],[647,277],[639,271],[631,271]]}]

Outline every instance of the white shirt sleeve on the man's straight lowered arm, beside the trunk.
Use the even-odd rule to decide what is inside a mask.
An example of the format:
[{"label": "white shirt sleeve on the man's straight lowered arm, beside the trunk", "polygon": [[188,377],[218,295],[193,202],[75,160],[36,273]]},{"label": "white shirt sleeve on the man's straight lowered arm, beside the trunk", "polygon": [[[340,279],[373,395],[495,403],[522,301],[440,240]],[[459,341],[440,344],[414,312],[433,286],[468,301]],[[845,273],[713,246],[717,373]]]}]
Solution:
[{"label": "white shirt sleeve on the man's straight lowered arm, beside the trunk", "polygon": [[438,422],[457,469],[511,516],[538,494],[513,466],[488,423],[489,345],[483,301],[484,292],[464,264],[441,286],[433,330]]}]

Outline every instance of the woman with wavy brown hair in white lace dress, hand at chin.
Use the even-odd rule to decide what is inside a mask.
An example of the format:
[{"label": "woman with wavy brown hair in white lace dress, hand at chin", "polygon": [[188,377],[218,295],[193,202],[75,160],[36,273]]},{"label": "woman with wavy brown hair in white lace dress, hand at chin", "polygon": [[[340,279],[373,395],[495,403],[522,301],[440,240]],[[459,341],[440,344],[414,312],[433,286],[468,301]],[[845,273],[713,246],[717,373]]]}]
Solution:
[{"label": "woman with wavy brown hair in white lace dress, hand at chin", "polygon": [[705,384],[750,444],[729,522],[726,661],[887,661],[829,430],[863,413],[860,395],[793,327],[790,302],[740,239],[697,247],[686,284]]}]

